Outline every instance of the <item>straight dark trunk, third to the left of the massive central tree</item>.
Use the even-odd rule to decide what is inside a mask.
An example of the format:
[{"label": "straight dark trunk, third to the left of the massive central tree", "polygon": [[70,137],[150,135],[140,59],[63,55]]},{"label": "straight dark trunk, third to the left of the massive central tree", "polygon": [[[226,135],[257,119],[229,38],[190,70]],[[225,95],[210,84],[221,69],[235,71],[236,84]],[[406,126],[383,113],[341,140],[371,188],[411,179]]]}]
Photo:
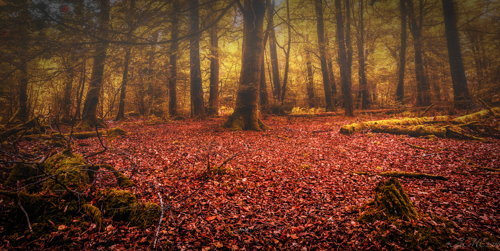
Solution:
[{"label": "straight dark trunk, third to the left of the massive central tree", "polygon": [[[172,9],[170,38],[177,39],[179,29],[179,19],[177,18],[179,6],[177,1],[173,1]],[[168,116],[170,117],[177,116],[177,50],[178,44],[171,43],[169,58],[170,77],[168,78]]]}]

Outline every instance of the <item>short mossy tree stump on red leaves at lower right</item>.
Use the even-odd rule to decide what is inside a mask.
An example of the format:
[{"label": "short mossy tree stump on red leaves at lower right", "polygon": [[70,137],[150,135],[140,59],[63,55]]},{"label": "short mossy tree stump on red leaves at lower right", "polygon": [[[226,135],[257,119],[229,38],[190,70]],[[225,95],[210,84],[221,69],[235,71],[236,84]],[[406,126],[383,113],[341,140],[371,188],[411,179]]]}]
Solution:
[{"label": "short mossy tree stump on red leaves at lower right", "polygon": [[378,182],[374,199],[369,208],[361,213],[358,221],[372,222],[384,217],[416,220],[418,214],[397,178]]}]

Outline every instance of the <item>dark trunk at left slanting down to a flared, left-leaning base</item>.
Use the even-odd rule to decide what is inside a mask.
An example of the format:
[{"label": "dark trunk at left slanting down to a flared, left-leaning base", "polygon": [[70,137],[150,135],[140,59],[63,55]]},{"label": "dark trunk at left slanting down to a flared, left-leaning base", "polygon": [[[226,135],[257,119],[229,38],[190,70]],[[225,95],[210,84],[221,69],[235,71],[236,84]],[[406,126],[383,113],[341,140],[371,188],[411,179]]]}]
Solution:
[{"label": "dark trunk at left slanting down to a flared, left-leaning base", "polygon": [[[109,0],[99,0],[100,13],[98,14],[101,22],[100,28],[107,29],[109,23]],[[101,32],[102,37],[106,38],[107,34]],[[102,78],[104,76],[104,62],[106,60],[107,43],[102,43],[96,50],[98,54],[94,56],[92,74],[90,75],[90,83],[88,84],[87,95],[83,102],[81,111],[82,121],[78,127],[82,130],[99,126],[97,125],[97,106],[99,104],[100,90],[102,87]]]}]

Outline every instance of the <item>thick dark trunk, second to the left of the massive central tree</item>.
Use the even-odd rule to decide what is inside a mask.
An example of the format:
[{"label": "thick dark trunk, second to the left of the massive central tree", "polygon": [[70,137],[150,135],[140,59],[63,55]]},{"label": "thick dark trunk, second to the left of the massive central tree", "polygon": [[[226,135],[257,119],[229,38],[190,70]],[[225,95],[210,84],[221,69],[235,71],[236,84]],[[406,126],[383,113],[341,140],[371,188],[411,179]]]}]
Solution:
[{"label": "thick dark trunk, second to the left of the massive central tree", "polygon": [[[199,13],[198,0],[190,0],[191,12],[189,22],[191,23],[191,32],[199,30]],[[203,101],[203,87],[201,86],[201,69],[199,65],[199,34],[191,37],[189,47],[189,64],[191,76],[191,117],[202,118],[205,117],[205,105]]]}]

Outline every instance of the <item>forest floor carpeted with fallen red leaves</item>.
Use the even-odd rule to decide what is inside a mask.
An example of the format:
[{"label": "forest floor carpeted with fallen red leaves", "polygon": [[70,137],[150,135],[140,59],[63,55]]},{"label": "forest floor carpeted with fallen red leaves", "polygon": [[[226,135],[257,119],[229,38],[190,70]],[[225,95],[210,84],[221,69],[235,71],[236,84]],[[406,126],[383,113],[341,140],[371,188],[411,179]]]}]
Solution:
[{"label": "forest floor carpeted with fallen red leaves", "polygon": [[[115,150],[87,160],[111,164],[130,176],[136,185],[129,190],[142,202],[159,204],[157,193],[161,194],[166,209],[158,250],[381,249],[374,241],[376,225],[356,218],[358,208],[373,198],[377,182],[387,178],[350,171],[447,177],[447,181],[399,180],[420,215],[449,219],[458,233],[481,230],[500,235],[499,174],[463,160],[500,168],[500,141],[338,133],[345,124],[384,118],[268,117],[264,123],[273,130],[264,132],[218,128],[224,118],[156,125],[129,119],[108,123],[129,134],[113,140]],[[101,149],[97,138],[77,143],[89,144],[75,145],[77,154]],[[221,168],[226,172],[207,178],[208,155],[216,167],[234,158]],[[115,187],[116,181],[104,177],[96,185]],[[108,225],[104,232],[79,234],[75,239],[82,244],[75,249],[152,248],[156,226],[140,229],[104,222]],[[392,246],[404,247],[404,241]]]}]

